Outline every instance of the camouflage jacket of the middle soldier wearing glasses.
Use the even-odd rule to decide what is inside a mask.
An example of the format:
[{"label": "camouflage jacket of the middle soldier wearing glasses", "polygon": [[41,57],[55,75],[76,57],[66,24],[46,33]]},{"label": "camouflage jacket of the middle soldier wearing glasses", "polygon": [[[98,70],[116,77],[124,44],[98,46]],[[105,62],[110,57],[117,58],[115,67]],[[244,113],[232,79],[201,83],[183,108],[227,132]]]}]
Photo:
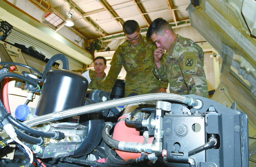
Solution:
[{"label": "camouflage jacket of the middle soldier wearing glasses", "polygon": [[157,93],[160,87],[167,88],[168,82],[160,83],[152,70],[155,49],[155,45],[142,35],[136,46],[127,41],[119,45],[110,62],[111,67],[104,81],[104,90],[111,92],[122,66],[126,70],[125,97],[132,92]]}]

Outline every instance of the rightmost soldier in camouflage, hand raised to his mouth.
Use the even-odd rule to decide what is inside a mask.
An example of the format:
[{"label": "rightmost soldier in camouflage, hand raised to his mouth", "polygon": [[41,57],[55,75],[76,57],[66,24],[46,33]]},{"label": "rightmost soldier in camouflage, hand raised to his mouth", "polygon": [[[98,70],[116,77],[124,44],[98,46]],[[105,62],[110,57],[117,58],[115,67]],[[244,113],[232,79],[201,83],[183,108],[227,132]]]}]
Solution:
[{"label": "rightmost soldier in camouflage, hand raised to his mouth", "polygon": [[151,23],[147,38],[151,38],[158,47],[154,51],[154,73],[160,79],[168,80],[170,93],[209,98],[204,52],[200,46],[175,34],[169,23],[162,18]]}]

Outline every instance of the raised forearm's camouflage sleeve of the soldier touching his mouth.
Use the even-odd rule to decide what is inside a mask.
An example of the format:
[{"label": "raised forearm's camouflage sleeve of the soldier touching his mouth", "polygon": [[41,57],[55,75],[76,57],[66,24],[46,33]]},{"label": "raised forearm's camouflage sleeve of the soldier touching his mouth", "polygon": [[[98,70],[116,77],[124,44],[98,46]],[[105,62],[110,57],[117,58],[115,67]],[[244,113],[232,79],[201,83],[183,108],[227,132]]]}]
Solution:
[{"label": "raised forearm's camouflage sleeve of the soldier touching his mouth", "polygon": [[[164,59],[161,59],[161,66],[159,69],[156,68],[156,65],[154,64],[153,66],[153,71],[154,71],[154,74],[156,75],[157,78],[160,78],[162,82],[164,81],[167,81],[167,75],[166,75],[166,69],[165,69],[165,65],[164,65]],[[164,82],[162,84],[161,82],[161,87],[163,88],[167,88],[168,87],[168,82]],[[166,86],[166,83],[167,83],[167,87]]]}]

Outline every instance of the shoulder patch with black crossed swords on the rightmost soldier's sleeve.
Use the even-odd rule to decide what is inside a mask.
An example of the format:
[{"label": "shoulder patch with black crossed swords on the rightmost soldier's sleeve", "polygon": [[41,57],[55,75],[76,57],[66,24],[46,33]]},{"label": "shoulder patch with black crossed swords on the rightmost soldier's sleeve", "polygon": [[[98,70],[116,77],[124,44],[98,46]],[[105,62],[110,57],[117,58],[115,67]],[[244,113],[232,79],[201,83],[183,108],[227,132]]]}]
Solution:
[{"label": "shoulder patch with black crossed swords on the rightmost soldier's sleeve", "polygon": [[183,71],[195,71],[197,63],[197,54],[193,52],[184,52],[183,53]]}]

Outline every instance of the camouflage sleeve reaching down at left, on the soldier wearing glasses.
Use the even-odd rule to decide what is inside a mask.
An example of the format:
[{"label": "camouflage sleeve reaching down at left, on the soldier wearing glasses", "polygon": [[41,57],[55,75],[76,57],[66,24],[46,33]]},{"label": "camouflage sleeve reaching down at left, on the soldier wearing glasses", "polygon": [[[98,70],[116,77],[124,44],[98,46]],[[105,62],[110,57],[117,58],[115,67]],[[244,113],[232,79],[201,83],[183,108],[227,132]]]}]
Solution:
[{"label": "camouflage sleeve reaching down at left, on the soldier wearing glasses", "polygon": [[124,58],[121,49],[118,47],[110,62],[111,67],[109,73],[104,80],[104,90],[108,90],[109,92],[112,91],[123,64]]}]

